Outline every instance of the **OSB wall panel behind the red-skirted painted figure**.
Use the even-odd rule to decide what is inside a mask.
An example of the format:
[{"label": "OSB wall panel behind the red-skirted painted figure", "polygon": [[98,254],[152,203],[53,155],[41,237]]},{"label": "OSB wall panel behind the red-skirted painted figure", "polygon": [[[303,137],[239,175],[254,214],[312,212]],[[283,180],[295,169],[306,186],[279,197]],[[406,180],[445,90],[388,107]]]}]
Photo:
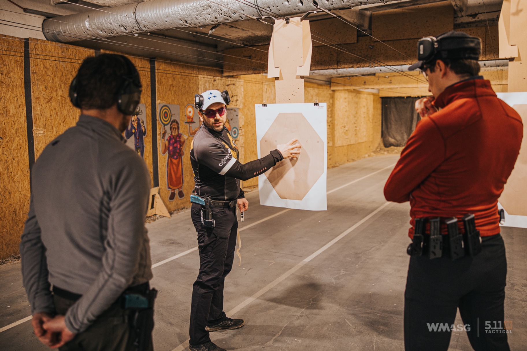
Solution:
[{"label": "OSB wall panel behind the red-skirted painted figure", "polygon": [[[184,197],[179,199],[175,196],[173,201],[169,201],[170,190],[167,187],[167,161],[168,152],[161,154],[161,128],[162,124],[157,119],[158,133],[155,138],[158,143],[158,165],[159,165],[159,193],[165,206],[169,211],[174,211],[180,208],[190,206],[190,193],[194,189],[194,179],[192,174],[192,166],[190,164],[190,145],[192,138],[189,138],[189,128],[185,118],[185,106],[193,103],[194,94],[199,91],[198,67],[190,67],[169,61],[156,62],[156,89],[157,89],[157,103],[158,104],[174,104],[179,105],[179,125],[180,133],[187,137],[183,149],[183,193]],[[197,120],[197,117],[195,118]]]}]

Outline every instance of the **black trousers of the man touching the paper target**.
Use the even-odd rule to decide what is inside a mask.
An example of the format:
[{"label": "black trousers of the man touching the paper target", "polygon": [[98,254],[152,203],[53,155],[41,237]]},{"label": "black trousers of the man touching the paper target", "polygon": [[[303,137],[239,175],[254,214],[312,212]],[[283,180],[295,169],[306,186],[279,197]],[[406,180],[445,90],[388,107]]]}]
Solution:
[{"label": "black trousers of the man touching the paper target", "polygon": [[238,219],[235,208],[212,208],[216,227],[201,226],[201,206],[193,203],[191,218],[198,232],[200,268],[192,287],[190,307],[190,345],[210,341],[205,326],[220,323],[223,312],[223,282],[232,269],[236,248]]}]

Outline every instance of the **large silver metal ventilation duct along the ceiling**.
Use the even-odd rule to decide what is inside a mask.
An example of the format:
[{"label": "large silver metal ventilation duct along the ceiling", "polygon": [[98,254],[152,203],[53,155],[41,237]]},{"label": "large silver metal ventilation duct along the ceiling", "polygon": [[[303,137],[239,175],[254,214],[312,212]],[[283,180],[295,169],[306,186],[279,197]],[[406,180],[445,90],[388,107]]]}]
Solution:
[{"label": "large silver metal ventilation duct along the ceiling", "polygon": [[[384,2],[328,0],[319,5],[330,10]],[[272,12],[283,18],[299,16],[316,9],[313,0],[151,0],[48,18],[42,23],[42,31],[47,40],[67,43],[178,27],[237,22],[248,18],[244,14],[261,17]]]}]

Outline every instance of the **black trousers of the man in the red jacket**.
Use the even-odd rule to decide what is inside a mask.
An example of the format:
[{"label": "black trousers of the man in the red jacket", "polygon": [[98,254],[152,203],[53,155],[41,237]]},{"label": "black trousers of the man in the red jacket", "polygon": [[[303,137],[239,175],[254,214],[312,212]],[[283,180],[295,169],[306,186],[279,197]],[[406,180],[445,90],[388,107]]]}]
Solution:
[{"label": "black trousers of the man in the red jacket", "polygon": [[[404,296],[407,351],[446,351],[451,331],[466,331],[476,351],[510,350],[512,330],[503,320],[505,246],[499,234],[484,237],[482,246],[474,258],[410,258]],[[463,325],[454,325],[457,308]]]}]

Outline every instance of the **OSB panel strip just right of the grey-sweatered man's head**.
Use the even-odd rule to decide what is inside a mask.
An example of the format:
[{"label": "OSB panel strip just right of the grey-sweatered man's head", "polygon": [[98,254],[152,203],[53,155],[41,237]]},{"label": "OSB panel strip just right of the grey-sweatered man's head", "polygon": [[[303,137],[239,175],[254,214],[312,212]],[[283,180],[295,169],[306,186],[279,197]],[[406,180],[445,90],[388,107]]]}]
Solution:
[{"label": "OSB panel strip just right of the grey-sweatered man's head", "polygon": [[[118,52],[102,50],[102,53],[120,54]],[[150,179],[153,187],[153,171],[152,171],[152,108],[150,100],[150,60],[148,58],[124,55],[130,58],[130,61],[135,65],[139,71],[141,84],[143,85],[143,92],[141,93],[141,103],[145,104],[146,109],[139,117],[144,120],[147,128],[147,135],[144,136],[144,162],[147,164],[150,172]],[[132,137],[133,139],[133,137]]]}]

